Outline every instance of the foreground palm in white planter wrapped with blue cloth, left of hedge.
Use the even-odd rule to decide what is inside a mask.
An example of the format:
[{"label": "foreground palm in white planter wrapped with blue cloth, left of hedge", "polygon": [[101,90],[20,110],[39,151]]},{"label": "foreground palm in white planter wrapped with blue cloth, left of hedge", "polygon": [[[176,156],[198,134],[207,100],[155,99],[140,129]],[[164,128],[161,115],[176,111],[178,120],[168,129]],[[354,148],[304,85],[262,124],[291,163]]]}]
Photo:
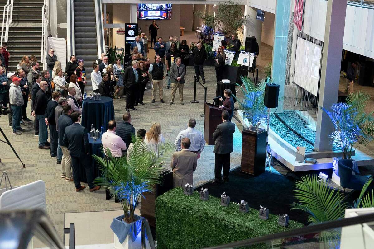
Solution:
[{"label": "foreground palm in white planter wrapped with blue cloth, left of hedge", "polygon": [[140,137],[133,136],[132,143],[128,159],[126,156],[114,158],[109,150],[108,160],[93,156],[101,169],[95,184],[115,193],[123,209],[123,215],[115,217],[110,226],[119,241],[116,245],[115,240],[116,248],[138,248],[137,238],[144,218],[135,214],[135,208],[143,193],[152,192],[154,184],[161,183],[159,173],[165,170],[162,164],[174,149],[172,143],[165,142],[157,146],[156,154]]}]

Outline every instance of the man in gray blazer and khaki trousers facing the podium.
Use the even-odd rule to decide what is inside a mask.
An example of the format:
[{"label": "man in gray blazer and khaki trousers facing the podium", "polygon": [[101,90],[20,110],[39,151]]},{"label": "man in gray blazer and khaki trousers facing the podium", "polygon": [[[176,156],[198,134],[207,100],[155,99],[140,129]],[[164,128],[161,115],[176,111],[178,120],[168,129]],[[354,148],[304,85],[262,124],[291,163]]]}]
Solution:
[{"label": "man in gray blazer and khaki trousers facing the podium", "polygon": [[183,85],[184,75],[186,75],[186,68],[181,64],[182,59],[180,57],[175,58],[175,63],[170,66],[170,78],[171,78],[171,100],[170,105],[174,103],[175,93],[179,88],[179,104],[183,105]]}]

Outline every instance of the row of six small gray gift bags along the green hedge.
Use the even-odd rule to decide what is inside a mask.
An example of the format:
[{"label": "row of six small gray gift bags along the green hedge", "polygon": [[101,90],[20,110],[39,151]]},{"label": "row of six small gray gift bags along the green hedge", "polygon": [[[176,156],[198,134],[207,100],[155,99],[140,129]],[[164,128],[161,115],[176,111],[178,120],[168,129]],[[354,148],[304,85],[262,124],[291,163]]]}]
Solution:
[{"label": "row of six small gray gift bags along the green hedge", "polygon": [[[186,183],[186,185],[184,185],[184,187],[183,187],[183,193],[186,194],[186,195],[192,195],[192,190],[193,190],[192,184]],[[200,193],[200,200],[209,200],[208,189],[201,188],[199,193]],[[220,204],[222,206],[225,206],[225,207],[228,207],[230,205],[230,196],[225,194],[225,192],[223,192],[221,194],[221,203]],[[237,203],[237,205],[239,206],[240,212],[247,213],[249,211],[248,202],[242,200],[240,203]],[[269,209],[260,205],[259,218],[261,220],[269,219]],[[278,219],[278,224],[279,225],[281,225],[283,227],[287,227],[288,223],[289,223],[289,216],[287,214],[279,215],[279,219]]]}]

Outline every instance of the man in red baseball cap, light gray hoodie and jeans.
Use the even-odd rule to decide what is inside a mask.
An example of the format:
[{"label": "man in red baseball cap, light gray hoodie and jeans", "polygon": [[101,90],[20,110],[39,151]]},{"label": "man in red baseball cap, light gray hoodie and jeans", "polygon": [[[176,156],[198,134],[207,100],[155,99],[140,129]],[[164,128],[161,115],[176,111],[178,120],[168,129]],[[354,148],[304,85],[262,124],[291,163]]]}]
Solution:
[{"label": "man in red baseball cap, light gray hoodie and jeans", "polygon": [[21,135],[21,131],[25,131],[21,128],[20,120],[21,120],[21,111],[22,105],[24,104],[24,99],[22,96],[21,87],[19,84],[21,83],[21,78],[15,76],[12,79],[12,83],[9,87],[9,103],[10,108],[12,108],[13,118],[12,118],[12,134]]}]

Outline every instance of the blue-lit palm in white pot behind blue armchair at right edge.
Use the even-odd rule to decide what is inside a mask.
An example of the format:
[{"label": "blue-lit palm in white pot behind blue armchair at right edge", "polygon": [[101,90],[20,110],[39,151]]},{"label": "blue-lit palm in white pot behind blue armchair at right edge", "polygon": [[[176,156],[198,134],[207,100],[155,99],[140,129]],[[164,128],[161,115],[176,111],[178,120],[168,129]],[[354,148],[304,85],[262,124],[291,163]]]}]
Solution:
[{"label": "blue-lit palm in white pot behind blue armchair at right edge", "polygon": [[[346,103],[333,104],[330,110],[321,108],[334,125],[334,131],[330,135],[332,147],[342,151],[341,158],[334,158],[332,162],[332,181],[337,184],[340,184],[338,160],[352,160],[353,153],[358,147],[366,146],[374,139],[374,112],[365,112],[369,100],[370,94],[355,91],[347,96]],[[356,168],[355,161],[353,164]]]}]

